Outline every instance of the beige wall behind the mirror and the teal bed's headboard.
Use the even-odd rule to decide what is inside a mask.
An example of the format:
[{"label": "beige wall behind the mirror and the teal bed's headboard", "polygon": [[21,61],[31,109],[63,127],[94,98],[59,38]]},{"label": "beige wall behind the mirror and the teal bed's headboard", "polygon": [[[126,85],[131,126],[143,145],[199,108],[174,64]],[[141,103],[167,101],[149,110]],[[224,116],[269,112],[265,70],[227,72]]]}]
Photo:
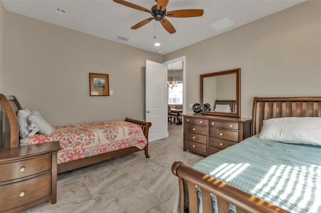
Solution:
[{"label": "beige wall behind the mirror and the teal bed's headboard", "polygon": [[320,96],[321,1],[308,0],[166,54],[164,61],[182,55],[188,105],[200,101],[200,74],[239,67],[242,117],[252,117],[254,96]]}]

